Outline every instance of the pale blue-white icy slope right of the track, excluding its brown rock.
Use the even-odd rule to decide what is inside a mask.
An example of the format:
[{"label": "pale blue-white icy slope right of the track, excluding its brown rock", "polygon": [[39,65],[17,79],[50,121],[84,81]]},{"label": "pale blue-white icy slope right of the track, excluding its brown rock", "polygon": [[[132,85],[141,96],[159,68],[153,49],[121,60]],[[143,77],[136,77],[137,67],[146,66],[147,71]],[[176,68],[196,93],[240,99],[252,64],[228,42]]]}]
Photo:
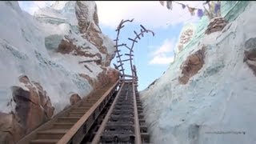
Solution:
[{"label": "pale blue-white icy slope right of the track, excluding its brown rock", "polygon": [[[234,21],[221,31],[198,36],[140,93],[152,143],[256,143],[255,6],[251,1],[246,8],[231,7],[225,18]],[[201,30],[203,34],[206,29]],[[202,47],[202,68],[180,84],[182,62]]]}]

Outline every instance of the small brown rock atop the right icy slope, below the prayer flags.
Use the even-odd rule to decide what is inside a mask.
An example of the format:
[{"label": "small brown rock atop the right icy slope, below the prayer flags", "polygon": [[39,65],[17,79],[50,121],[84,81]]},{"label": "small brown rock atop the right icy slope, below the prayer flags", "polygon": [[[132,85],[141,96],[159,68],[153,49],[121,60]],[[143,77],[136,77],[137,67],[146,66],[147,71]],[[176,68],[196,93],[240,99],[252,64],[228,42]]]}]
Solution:
[{"label": "small brown rock atop the right icy slope, below the prayer flags", "polygon": [[207,26],[206,33],[205,34],[211,34],[216,31],[221,31],[227,24],[225,18],[218,17],[213,18],[210,22],[210,24]]}]

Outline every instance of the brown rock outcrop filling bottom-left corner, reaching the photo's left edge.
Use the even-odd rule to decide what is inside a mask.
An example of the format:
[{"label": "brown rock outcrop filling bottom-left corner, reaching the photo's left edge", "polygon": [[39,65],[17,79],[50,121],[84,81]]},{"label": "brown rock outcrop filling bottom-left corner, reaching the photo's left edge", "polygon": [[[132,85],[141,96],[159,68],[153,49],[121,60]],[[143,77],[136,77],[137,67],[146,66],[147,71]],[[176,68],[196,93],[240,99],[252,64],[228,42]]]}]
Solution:
[{"label": "brown rock outcrop filling bottom-left corner, reaching the photo's left edge", "polygon": [[2,135],[1,140],[10,143],[18,141],[54,114],[54,106],[51,105],[50,98],[40,83],[30,82],[26,75],[20,76],[19,82],[22,82],[26,89],[12,86],[15,111],[11,114],[1,113],[0,118],[1,130],[10,133]]}]

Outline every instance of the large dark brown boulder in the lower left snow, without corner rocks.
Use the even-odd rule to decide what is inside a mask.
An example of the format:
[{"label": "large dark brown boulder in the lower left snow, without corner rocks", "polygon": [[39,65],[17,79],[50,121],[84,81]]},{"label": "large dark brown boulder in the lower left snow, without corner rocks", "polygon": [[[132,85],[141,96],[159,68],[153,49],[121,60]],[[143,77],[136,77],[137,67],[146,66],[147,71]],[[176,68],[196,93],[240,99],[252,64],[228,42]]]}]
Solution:
[{"label": "large dark brown boulder in the lower left snow, without corner rocks", "polygon": [[16,103],[15,115],[20,119],[19,123],[26,127],[26,133],[46,122],[54,114],[54,106],[51,105],[49,96],[38,82],[30,82],[24,75],[19,78],[28,90],[19,86],[13,86],[13,97]]}]

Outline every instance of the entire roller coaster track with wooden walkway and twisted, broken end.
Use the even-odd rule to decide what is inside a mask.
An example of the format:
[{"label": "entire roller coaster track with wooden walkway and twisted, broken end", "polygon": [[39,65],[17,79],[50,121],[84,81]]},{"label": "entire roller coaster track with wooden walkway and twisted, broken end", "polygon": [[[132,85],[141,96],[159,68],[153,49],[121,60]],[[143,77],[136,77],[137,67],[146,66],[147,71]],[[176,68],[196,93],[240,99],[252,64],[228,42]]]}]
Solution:
[{"label": "entire roller coaster track with wooden walkway and twisted, broken end", "polygon": [[[78,143],[150,143],[150,134],[147,132],[143,116],[142,103],[138,96],[138,77],[136,67],[132,63],[134,42],[138,42],[144,33],[152,33],[142,25],[141,32],[136,34],[129,47],[126,44],[118,45],[120,30],[126,20],[118,25],[116,51],[119,65],[116,69],[122,72],[117,82],[109,83],[95,90],[74,106],[70,106],[54,118],[39,126],[36,130],[19,140],[18,144],[78,144]],[[122,60],[119,46],[130,50],[128,60]],[[125,74],[124,62],[130,61],[132,75]],[[131,78],[131,79],[126,79]]]}]

